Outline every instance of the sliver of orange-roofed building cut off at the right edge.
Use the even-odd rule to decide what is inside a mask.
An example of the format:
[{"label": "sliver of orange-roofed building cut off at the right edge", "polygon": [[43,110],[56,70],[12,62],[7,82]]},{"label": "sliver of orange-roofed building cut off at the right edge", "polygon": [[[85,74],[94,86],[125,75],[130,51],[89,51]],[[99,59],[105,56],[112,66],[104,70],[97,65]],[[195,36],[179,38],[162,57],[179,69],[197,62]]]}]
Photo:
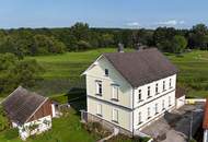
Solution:
[{"label": "sliver of orange-roofed building cut off at the right edge", "polygon": [[208,98],[206,100],[205,110],[204,110],[203,129],[204,129],[203,142],[208,142]]}]

